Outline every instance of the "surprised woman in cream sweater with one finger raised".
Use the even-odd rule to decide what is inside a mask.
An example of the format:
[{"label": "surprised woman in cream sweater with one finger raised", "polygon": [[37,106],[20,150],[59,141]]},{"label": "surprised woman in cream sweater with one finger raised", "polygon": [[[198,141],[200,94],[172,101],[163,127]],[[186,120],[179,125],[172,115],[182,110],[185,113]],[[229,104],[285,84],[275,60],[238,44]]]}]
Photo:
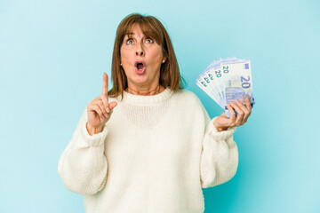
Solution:
[{"label": "surprised woman in cream sweater with one finger raised", "polygon": [[[232,135],[251,114],[250,101],[210,120],[181,77],[159,20],[132,14],[116,31],[113,88],[103,74],[60,157],[67,188],[84,194],[86,212],[204,212],[202,188],[236,173]],[[234,113],[237,112],[237,116]]]}]

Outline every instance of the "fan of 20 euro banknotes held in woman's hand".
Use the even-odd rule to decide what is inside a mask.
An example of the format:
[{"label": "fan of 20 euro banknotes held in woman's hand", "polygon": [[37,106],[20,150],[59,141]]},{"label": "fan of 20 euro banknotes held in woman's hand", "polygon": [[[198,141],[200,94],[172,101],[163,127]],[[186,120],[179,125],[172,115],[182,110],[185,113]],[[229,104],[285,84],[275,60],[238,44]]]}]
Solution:
[{"label": "fan of 20 euro banknotes held in woman's hand", "polygon": [[219,104],[230,117],[227,105],[236,99],[243,104],[252,96],[252,71],[250,59],[227,58],[213,60],[204,72],[196,79],[198,85],[217,104]]}]

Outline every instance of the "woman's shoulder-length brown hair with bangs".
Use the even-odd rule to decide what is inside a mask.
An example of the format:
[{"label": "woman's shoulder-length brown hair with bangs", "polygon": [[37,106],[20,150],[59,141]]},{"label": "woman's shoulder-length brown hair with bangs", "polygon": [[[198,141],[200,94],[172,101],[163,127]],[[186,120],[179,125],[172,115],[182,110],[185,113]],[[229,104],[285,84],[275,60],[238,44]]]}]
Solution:
[{"label": "woman's shoulder-length brown hair with bangs", "polygon": [[112,56],[111,78],[113,88],[108,91],[108,96],[124,96],[124,90],[128,87],[127,77],[121,64],[120,48],[124,42],[124,36],[130,33],[133,25],[138,24],[145,36],[150,36],[162,47],[165,62],[160,67],[159,84],[164,88],[170,87],[172,91],[183,88],[183,79],[177,58],[173,51],[172,42],[162,23],[153,16],[143,16],[132,13],[122,20],[116,30],[116,41]]}]

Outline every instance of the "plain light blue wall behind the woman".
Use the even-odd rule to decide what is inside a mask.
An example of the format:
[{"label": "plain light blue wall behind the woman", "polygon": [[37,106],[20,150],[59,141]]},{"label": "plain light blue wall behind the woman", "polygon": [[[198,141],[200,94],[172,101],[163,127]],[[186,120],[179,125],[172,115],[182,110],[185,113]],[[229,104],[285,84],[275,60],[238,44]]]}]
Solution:
[{"label": "plain light blue wall behind the woman", "polygon": [[0,212],[84,212],[57,173],[84,107],[110,75],[129,13],[167,28],[187,89],[213,59],[252,60],[256,106],[237,129],[236,177],[205,212],[320,212],[320,3],[316,0],[0,1]]}]

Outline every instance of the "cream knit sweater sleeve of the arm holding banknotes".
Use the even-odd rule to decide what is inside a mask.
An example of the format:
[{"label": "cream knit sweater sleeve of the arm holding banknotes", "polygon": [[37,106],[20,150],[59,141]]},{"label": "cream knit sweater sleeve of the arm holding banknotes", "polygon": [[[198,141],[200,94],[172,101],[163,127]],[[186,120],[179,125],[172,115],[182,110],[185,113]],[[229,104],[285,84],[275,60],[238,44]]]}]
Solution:
[{"label": "cream knit sweater sleeve of the arm holding banknotes", "polygon": [[227,182],[235,176],[238,165],[238,150],[233,140],[236,127],[218,132],[213,125],[215,119],[210,120],[204,109],[206,128],[200,161],[200,179],[203,188]]}]

